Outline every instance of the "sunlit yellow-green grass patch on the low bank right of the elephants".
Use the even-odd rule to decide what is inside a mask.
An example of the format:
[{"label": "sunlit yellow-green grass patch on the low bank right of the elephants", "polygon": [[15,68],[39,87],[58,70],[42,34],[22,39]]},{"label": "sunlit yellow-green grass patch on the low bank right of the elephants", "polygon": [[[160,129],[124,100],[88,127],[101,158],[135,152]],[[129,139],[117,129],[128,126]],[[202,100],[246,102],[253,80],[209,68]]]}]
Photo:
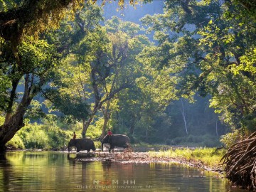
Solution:
[{"label": "sunlit yellow-green grass patch on the low bank right of the elephants", "polygon": [[220,159],[225,154],[225,150],[216,151],[216,148],[183,148],[183,149],[169,149],[168,151],[149,151],[149,156],[152,157],[167,157],[174,159],[186,159],[193,161],[201,161],[204,165],[214,168],[220,166]]}]

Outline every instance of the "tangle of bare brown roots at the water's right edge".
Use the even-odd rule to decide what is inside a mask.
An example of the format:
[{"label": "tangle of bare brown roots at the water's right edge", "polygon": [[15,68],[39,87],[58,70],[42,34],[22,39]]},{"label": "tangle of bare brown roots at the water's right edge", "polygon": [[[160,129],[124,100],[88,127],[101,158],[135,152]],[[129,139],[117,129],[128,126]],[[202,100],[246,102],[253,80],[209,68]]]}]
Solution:
[{"label": "tangle of bare brown roots at the water's right edge", "polygon": [[256,191],[256,132],[231,146],[222,161],[234,185]]}]

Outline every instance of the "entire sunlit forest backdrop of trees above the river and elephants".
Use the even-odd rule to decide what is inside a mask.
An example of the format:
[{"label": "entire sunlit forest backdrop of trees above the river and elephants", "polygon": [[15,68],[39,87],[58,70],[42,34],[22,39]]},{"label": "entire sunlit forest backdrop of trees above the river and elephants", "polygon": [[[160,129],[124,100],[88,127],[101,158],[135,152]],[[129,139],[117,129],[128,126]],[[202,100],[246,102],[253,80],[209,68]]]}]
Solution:
[{"label": "entire sunlit forest backdrop of trees above the river and elephants", "polygon": [[100,141],[111,129],[133,144],[223,146],[228,165],[240,159],[230,174],[256,170],[255,6],[1,0],[0,150],[65,149],[73,132]]}]

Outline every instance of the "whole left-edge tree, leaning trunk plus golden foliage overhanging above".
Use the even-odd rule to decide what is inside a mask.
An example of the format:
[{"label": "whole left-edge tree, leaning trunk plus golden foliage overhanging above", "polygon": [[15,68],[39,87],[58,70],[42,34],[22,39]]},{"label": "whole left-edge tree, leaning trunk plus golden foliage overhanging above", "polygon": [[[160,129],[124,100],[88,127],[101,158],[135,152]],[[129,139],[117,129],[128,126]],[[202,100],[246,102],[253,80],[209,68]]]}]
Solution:
[{"label": "whole left-edge tree, leaning trunk plus golden foliage overhanging above", "polygon": [[[48,73],[58,58],[54,46],[41,40],[41,33],[58,28],[65,12],[73,12],[71,15],[74,16],[75,10],[83,6],[84,1],[0,3],[0,71],[4,82],[1,87],[1,110],[6,116],[5,123],[0,127],[0,150],[3,151],[6,142],[23,127],[23,114],[48,81]],[[22,98],[17,95],[19,82],[24,82]]]}]

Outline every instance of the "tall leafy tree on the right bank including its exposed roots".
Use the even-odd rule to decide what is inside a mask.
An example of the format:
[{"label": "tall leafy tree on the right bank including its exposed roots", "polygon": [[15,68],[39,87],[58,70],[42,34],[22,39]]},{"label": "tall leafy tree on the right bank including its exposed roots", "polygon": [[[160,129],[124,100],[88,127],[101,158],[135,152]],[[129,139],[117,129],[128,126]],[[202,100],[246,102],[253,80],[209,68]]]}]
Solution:
[{"label": "tall leafy tree on the right bank including its exposed roots", "polygon": [[[180,95],[210,94],[220,118],[245,135],[256,127],[255,15],[254,1],[184,0],[166,1],[164,14],[142,20],[159,41],[144,53],[152,65],[174,70]],[[224,156],[228,178],[254,189],[255,141],[253,133]]]}]

